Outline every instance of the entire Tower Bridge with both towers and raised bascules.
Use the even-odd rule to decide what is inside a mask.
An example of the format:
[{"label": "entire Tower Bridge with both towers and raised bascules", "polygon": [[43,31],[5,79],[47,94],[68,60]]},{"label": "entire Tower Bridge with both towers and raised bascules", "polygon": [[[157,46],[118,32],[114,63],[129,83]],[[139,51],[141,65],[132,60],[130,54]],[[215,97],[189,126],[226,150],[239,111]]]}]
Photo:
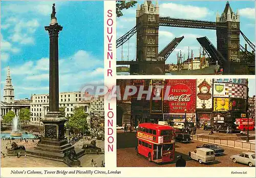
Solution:
[{"label": "entire Tower Bridge with both towers and raised bascules", "polygon": [[[166,59],[184,36],[173,39],[159,52],[159,26],[216,30],[217,48],[206,36],[197,38],[209,56],[209,63],[218,61],[223,74],[255,74],[255,45],[240,30],[239,11],[234,13],[229,2],[221,16],[217,12],[216,21],[204,21],[160,17],[158,3],[153,5],[151,1],[145,1],[137,7],[136,26],[116,41],[116,47],[121,47],[137,33],[136,61],[117,61],[117,65],[130,65],[130,74],[164,74]],[[240,44],[240,34],[253,49],[252,52]]]}]

